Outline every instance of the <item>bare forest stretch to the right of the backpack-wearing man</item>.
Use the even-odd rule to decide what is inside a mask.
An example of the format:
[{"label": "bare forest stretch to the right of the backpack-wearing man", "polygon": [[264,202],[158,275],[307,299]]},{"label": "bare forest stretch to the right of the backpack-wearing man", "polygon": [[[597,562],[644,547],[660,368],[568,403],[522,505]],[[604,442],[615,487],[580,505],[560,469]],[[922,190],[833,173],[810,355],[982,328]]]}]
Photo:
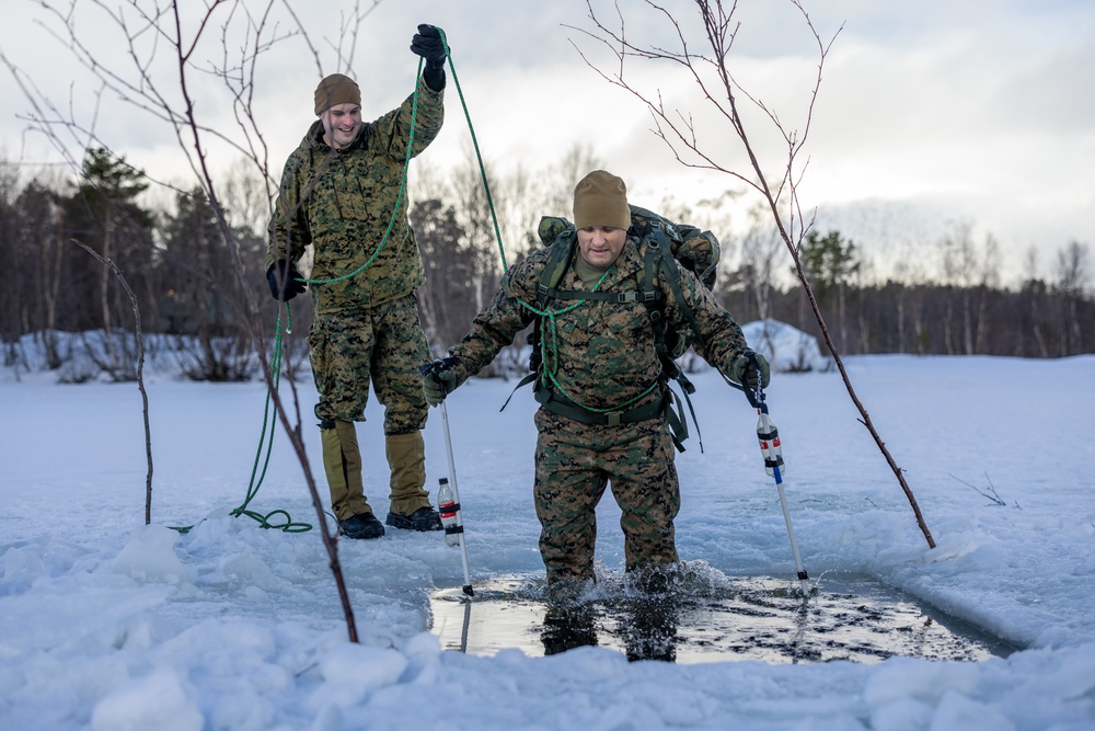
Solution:
[{"label": "bare forest stretch to the right of the backpack-wearing man", "polygon": [[[1095,353],[1087,244],[1070,241],[1058,250],[1049,278],[1034,274],[1037,253],[1029,251],[1029,276],[1016,288],[1000,285],[1001,260],[993,238],[978,243],[968,225],[934,242],[934,278],[906,272],[906,278],[871,281],[864,272],[868,262],[853,241],[839,231],[807,232],[800,251],[804,270],[842,354],[1048,358]],[[819,334],[802,287],[770,287],[751,264],[730,271],[727,279],[723,300],[731,312],[747,321],[773,318]]]}]

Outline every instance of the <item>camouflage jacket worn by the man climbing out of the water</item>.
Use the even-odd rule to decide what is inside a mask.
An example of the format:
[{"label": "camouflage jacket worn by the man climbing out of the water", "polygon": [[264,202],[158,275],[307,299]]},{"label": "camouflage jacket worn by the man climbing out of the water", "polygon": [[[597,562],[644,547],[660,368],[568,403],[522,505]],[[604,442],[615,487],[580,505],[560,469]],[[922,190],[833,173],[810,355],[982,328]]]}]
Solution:
[{"label": "camouflage jacket worn by the man climbing out of the water", "polygon": [[[645,245],[634,237],[629,238],[598,289],[636,292]],[[549,248],[539,249],[512,266],[492,302],[475,316],[469,333],[450,350],[450,355],[457,358],[458,381],[488,365],[534,319],[530,307],[535,306],[537,286],[549,252]],[[672,288],[660,278],[658,287],[665,296],[667,321],[688,328],[687,316]],[[588,289],[573,266],[557,288]],[[696,343],[696,352],[713,367],[729,373],[730,362],[747,347],[741,328],[700,279],[683,267],[680,290],[705,343],[705,347]],[[587,409],[601,411],[631,409],[657,399],[661,364],[655,352],[654,324],[646,305],[583,300],[572,307],[574,304],[552,302],[550,307],[555,315],[544,317],[541,322],[544,377],[552,391]]]}]

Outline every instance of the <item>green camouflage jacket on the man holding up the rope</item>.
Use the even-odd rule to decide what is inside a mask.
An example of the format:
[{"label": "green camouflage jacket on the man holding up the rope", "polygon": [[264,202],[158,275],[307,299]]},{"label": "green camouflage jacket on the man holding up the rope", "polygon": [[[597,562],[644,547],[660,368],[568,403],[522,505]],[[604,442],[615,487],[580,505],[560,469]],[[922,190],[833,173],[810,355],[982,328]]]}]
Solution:
[{"label": "green camouflage jacket on the man holding up the rope", "polygon": [[[442,92],[430,90],[419,77],[416,93],[414,156],[437,137],[443,121]],[[286,250],[292,262],[299,262],[312,244],[309,288],[319,312],[374,307],[425,282],[422,255],[407,222],[405,189],[384,240],[400,199],[413,103],[414,95],[408,96],[397,110],[362,124],[357,139],[341,150],[323,141],[323,125],[316,119],[286,160],[267,230],[265,267],[284,259]],[[367,262],[353,277],[339,279]]]}]

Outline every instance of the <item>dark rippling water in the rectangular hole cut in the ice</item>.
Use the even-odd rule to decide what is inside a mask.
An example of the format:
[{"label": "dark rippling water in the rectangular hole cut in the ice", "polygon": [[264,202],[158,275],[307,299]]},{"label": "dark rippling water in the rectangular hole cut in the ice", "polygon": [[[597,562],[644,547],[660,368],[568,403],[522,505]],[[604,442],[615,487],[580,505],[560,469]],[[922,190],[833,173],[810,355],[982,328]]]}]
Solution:
[{"label": "dark rippling water in the rectangular hole cut in the ice", "polygon": [[437,592],[433,631],[446,650],[529,656],[581,646],[631,660],[679,663],[762,660],[880,662],[892,655],[979,661],[1017,648],[863,576],[810,582],[718,574],[682,591],[648,595],[599,582],[580,597],[549,602],[542,580],[511,576]]}]

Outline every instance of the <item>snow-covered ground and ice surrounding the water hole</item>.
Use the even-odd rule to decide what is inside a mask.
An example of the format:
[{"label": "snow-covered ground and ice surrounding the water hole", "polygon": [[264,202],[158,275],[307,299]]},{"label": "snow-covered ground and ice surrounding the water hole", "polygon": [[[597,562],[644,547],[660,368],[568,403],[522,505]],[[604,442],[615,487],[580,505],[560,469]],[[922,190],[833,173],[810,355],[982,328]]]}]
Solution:
[{"label": "snow-covered ground and ice surrounding the water hole", "polygon": [[[848,365],[937,547],[839,375],[776,374],[768,402],[811,580],[825,592],[872,576],[1024,649],[977,663],[688,665],[606,648],[442,651],[429,596],[463,583],[460,551],[394,529],[339,541],[351,644],[319,533],[227,516],[260,456],[261,384],[148,376],[146,526],[136,385],[0,370],[0,729],[1095,729],[1095,357]],[[793,585],[756,414],[717,374],[691,378],[704,452],[693,434],[678,458],[682,559]],[[498,412],[514,385],[473,379],[448,401],[473,583],[542,571],[535,404],[525,389]],[[301,393],[309,414],[310,382]],[[368,416],[366,481],[384,513],[378,404]],[[303,433],[321,473],[311,419]],[[437,410],[426,439],[434,489],[447,473]],[[1004,504],[981,494],[992,490]],[[280,433],[250,509],[316,523]],[[611,581],[623,561],[611,498],[601,512]]]}]

